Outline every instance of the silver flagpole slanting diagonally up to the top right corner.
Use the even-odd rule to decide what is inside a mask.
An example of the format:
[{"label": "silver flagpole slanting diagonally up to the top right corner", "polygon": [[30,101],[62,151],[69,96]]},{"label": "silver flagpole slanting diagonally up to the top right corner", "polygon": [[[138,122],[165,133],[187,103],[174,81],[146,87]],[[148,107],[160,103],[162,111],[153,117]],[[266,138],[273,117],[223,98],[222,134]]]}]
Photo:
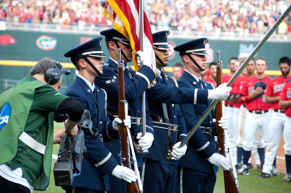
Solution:
[{"label": "silver flagpole slanting diagonally up to the top right corner", "polygon": [[[242,63],[242,65],[239,67],[237,72],[230,78],[226,86],[232,85],[232,83],[235,81],[235,79],[239,76],[239,74],[243,71],[243,69],[246,67],[246,65],[249,64],[251,59],[255,56],[255,54],[259,51],[259,49],[265,44],[265,42],[268,40],[268,38],[272,35],[272,33],[278,28],[279,24],[283,21],[283,19],[289,14],[291,11],[291,4],[288,6],[288,8],[283,12],[283,14],[278,18],[278,20],[275,22],[275,24],[272,26],[272,28],[269,29],[269,31],[266,33],[266,35],[263,37],[263,39],[258,43],[258,45],[255,47],[255,49],[251,52],[251,54],[246,58],[246,60]],[[193,126],[191,131],[187,134],[185,139],[180,144],[179,148],[184,146],[187,141],[190,139],[190,137],[194,134],[194,132],[197,130],[197,128],[200,126],[200,124],[204,121],[204,119],[208,116],[208,114],[212,111],[212,109],[215,107],[215,105],[218,103],[218,100],[213,101],[210,106],[206,109],[206,111],[203,113],[203,115],[200,117],[200,119],[197,121],[197,123]]]}]

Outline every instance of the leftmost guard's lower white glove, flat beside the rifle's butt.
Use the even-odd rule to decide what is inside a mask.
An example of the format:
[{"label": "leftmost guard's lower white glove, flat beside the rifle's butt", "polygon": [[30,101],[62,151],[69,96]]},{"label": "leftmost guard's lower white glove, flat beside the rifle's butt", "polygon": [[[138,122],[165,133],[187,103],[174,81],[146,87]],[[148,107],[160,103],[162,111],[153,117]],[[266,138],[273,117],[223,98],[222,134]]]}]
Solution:
[{"label": "leftmost guard's lower white glove, flat beside the rifle's butt", "polygon": [[115,176],[116,178],[120,178],[127,181],[128,183],[136,182],[137,180],[137,176],[133,170],[127,167],[120,166],[120,165],[117,165],[112,170],[111,174]]}]

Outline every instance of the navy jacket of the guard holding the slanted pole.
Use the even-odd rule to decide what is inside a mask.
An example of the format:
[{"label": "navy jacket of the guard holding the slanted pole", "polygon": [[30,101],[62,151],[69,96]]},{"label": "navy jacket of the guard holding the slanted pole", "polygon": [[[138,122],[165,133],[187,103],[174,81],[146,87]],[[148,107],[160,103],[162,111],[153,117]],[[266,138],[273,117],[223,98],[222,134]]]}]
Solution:
[{"label": "navy jacket of the guard holding the slanted pole", "polygon": [[[184,121],[184,117],[182,116],[182,113],[180,111],[180,106],[177,104],[174,104],[174,102],[178,102],[181,100],[189,100],[191,103],[193,103],[194,99],[191,98],[191,94],[189,92],[183,93],[179,95],[178,93],[178,85],[175,84],[173,79],[171,81],[169,80],[169,77],[167,77],[167,85],[164,84],[162,79],[157,76],[156,77],[156,83],[153,87],[150,89],[147,89],[147,99],[148,99],[148,106],[150,113],[153,115],[157,115],[159,117],[162,117],[164,119],[164,112],[163,112],[163,106],[162,103],[166,103],[167,112],[168,112],[168,118],[170,124],[178,125],[178,131],[177,132],[171,132],[172,134],[172,143],[168,143],[168,137],[167,137],[167,130],[162,128],[154,128],[155,131],[155,143],[152,147],[149,148],[148,154],[145,154],[144,157],[150,158],[159,162],[162,162],[164,164],[173,164],[178,165],[178,160],[166,160],[166,151],[167,146],[173,146],[177,142],[182,142],[184,138],[187,135],[186,132],[186,125]],[[172,86],[173,83],[173,86]],[[173,92],[174,91],[174,92]],[[176,94],[177,93],[177,94]],[[186,94],[189,94],[189,97],[186,97]],[[185,95],[184,98],[180,98],[183,95]],[[192,96],[194,97],[194,89]],[[171,103],[172,102],[172,103]],[[153,121],[157,121],[154,120]],[[165,121],[164,121],[165,122]]]}]

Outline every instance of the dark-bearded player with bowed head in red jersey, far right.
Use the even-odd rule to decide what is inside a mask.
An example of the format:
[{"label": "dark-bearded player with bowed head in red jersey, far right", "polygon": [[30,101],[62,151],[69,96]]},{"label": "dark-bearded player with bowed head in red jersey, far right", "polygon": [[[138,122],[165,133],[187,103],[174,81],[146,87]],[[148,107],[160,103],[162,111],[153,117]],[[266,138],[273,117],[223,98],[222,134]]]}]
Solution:
[{"label": "dark-bearded player with bowed head in red jersey, far right", "polygon": [[291,80],[290,74],[290,58],[283,57],[279,60],[279,68],[282,75],[274,78],[268,85],[266,91],[266,103],[272,104],[272,117],[269,125],[270,138],[267,140],[267,149],[265,154],[265,164],[263,165],[262,174],[258,178],[271,178],[272,176],[279,176],[278,170],[273,164],[276,151],[278,149],[284,123],[285,123],[285,108],[279,107],[279,99],[286,81]]}]

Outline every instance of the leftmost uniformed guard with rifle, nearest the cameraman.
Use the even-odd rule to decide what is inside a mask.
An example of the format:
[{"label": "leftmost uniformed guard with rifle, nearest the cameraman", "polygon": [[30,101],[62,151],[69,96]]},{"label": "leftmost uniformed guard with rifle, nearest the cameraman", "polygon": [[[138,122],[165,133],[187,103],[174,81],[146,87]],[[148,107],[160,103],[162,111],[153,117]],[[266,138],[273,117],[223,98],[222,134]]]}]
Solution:
[{"label": "leftmost uniformed guard with rifle, nearest the cameraman", "polygon": [[[74,177],[72,187],[63,187],[66,192],[95,192],[101,193],[109,190],[108,175],[111,173],[117,178],[127,182],[135,181],[134,171],[118,165],[118,161],[102,142],[102,136],[108,130],[118,128],[120,119],[109,122],[107,113],[106,92],[93,82],[96,76],[102,76],[103,57],[101,50],[103,38],[97,37],[81,44],[65,53],[78,70],[75,81],[67,88],[65,95],[76,99],[84,109],[89,110],[93,128],[97,128],[99,136],[92,140],[85,137],[86,155],[82,162],[82,172]],[[130,125],[130,120],[124,120],[125,125]]]}]

